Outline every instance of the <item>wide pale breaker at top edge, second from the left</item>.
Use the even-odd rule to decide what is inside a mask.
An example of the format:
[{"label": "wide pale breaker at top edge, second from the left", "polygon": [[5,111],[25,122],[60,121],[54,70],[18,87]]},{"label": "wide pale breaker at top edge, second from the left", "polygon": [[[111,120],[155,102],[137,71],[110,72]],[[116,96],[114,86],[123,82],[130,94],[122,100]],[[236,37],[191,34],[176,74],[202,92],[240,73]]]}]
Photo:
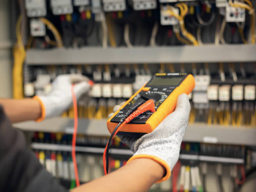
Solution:
[{"label": "wide pale breaker at top edge, second from the left", "polygon": [[54,15],[72,14],[73,12],[71,0],[50,0],[50,5]]}]

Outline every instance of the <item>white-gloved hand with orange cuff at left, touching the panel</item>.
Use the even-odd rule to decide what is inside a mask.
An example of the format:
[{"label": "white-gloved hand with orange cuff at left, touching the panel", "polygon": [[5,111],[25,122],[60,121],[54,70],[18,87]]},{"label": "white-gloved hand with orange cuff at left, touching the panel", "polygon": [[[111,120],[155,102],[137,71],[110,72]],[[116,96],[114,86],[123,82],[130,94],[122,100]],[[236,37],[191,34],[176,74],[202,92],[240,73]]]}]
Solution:
[{"label": "white-gloved hand with orange cuff at left, touching the panel", "polygon": [[91,85],[89,79],[81,74],[65,74],[60,75],[52,83],[52,90],[47,96],[34,96],[41,105],[41,118],[37,122],[52,116],[58,116],[67,111],[72,105],[72,84],[76,83],[74,87],[74,94],[78,100],[82,94],[89,91]]}]

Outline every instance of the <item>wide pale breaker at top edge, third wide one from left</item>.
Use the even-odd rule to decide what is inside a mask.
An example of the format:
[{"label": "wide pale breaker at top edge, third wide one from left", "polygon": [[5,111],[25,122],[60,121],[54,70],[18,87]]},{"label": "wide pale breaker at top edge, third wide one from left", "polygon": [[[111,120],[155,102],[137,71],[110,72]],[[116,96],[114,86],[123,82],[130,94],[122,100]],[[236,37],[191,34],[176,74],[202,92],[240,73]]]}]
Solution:
[{"label": "wide pale breaker at top edge, third wide one from left", "polygon": [[105,12],[123,11],[125,8],[125,0],[103,0],[103,10]]}]

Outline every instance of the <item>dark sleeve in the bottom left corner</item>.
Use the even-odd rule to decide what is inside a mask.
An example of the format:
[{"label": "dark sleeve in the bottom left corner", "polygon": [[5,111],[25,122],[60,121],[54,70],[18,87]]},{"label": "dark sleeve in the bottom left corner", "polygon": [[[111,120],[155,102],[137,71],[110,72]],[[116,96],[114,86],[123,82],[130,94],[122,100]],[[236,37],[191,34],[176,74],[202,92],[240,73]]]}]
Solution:
[{"label": "dark sleeve in the bottom left corner", "polygon": [[0,191],[68,191],[27,149],[23,133],[12,127],[1,105]]}]

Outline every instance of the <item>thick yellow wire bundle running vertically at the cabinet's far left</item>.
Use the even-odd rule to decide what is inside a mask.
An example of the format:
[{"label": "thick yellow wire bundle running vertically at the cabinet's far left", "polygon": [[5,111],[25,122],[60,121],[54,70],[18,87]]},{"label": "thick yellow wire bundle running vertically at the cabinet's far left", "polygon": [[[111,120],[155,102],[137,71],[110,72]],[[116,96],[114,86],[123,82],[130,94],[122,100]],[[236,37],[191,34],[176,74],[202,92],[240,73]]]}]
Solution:
[{"label": "thick yellow wire bundle running vertically at the cabinet's far left", "polygon": [[21,37],[21,22],[23,16],[19,16],[16,23],[16,38],[17,42],[14,45],[14,68],[12,72],[13,76],[13,96],[14,99],[23,98],[23,63],[25,61],[26,52]]}]

